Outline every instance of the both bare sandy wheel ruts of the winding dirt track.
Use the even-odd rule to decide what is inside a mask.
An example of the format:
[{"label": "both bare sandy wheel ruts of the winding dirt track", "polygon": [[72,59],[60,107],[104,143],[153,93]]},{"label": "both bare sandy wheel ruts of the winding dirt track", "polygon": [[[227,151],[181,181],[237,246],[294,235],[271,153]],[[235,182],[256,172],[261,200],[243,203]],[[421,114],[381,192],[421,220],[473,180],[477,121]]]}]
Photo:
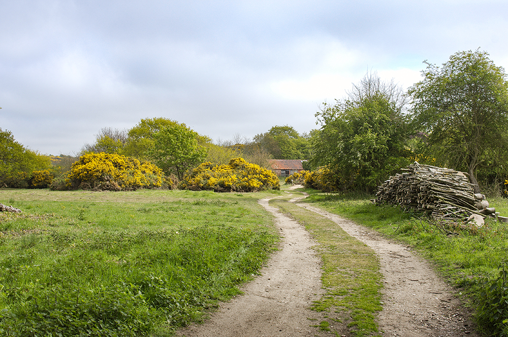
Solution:
[{"label": "both bare sandy wheel ruts of the winding dirt track", "polygon": [[[242,289],[244,295],[223,303],[204,324],[177,331],[179,336],[329,336],[311,325],[321,314],[309,310],[322,294],[320,260],[303,226],[268,205],[282,236],[281,249]],[[471,323],[451,289],[440,281],[429,264],[407,247],[392,243],[350,220],[300,203],[338,224],[346,233],[365,242],[380,260],[385,294],[379,328],[385,336],[474,336]],[[332,328],[332,331],[334,329]],[[350,331],[337,331],[349,336]]]}]

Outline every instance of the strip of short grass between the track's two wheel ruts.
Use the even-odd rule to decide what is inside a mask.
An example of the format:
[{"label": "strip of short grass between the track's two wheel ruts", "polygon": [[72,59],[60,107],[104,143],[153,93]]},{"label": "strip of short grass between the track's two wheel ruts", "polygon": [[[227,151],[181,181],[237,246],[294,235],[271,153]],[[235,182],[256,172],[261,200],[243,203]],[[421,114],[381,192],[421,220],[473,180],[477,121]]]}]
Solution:
[{"label": "strip of short grass between the track's two wheel ruts", "polygon": [[317,326],[337,336],[345,331],[356,336],[377,335],[375,319],[382,310],[379,293],[382,275],[374,252],[333,221],[287,199],[273,199],[270,204],[304,224],[319,242],[315,249],[323,260],[322,282],[326,292],[313,309],[325,312],[326,319]]}]

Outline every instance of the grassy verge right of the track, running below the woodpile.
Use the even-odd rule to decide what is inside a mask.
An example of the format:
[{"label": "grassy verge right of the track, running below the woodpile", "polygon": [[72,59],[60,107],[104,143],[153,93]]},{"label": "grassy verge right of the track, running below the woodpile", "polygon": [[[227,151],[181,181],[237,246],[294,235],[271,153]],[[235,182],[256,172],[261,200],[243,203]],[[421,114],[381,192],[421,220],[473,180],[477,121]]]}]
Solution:
[{"label": "grassy verge right of the track, running below the woodpile", "polygon": [[[508,281],[508,274],[500,266],[508,260],[508,223],[487,219],[481,228],[450,226],[429,221],[422,214],[403,212],[399,207],[376,206],[368,196],[306,192],[311,194],[306,202],[353,219],[422,252],[435,263],[440,275],[455,285],[457,295],[473,310],[484,333],[506,335],[508,329],[502,321],[508,318],[508,291],[503,282]],[[489,201],[497,211],[508,214],[507,200]],[[499,317],[494,321],[496,313]]]}]

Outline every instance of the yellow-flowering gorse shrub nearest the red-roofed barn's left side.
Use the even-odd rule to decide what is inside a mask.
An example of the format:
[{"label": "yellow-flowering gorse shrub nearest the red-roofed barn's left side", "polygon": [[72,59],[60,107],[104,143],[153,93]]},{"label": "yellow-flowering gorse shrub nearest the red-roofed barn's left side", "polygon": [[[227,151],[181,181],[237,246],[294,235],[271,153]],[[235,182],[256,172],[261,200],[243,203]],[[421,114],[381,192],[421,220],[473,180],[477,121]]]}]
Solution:
[{"label": "yellow-flowering gorse shrub nearest the red-roofed barn's left side", "polygon": [[278,190],[280,185],[272,171],[247,163],[242,158],[234,158],[228,165],[202,163],[184,175],[179,187],[195,191],[257,192]]}]

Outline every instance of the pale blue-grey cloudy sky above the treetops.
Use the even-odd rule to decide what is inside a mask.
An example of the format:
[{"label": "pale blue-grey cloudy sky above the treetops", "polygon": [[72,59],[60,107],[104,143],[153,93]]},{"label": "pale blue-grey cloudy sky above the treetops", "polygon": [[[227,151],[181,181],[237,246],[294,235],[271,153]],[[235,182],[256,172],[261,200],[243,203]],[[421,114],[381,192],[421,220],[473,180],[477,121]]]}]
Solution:
[{"label": "pale blue-grey cloudy sky above the treetops", "polygon": [[308,132],[367,71],[407,88],[458,51],[508,69],[505,0],[0,0],[0,13],[0,128],[41,154],[155,117],[215,141]]}]

